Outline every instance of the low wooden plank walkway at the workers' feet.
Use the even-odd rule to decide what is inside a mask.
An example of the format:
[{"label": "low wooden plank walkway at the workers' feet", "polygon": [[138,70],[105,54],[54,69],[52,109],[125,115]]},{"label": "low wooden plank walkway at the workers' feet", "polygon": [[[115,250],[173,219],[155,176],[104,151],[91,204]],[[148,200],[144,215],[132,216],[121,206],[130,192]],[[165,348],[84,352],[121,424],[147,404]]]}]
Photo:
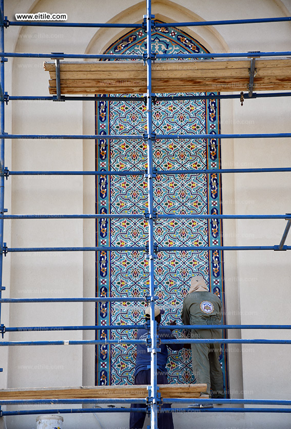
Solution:
[{"label": "low wooden plank walkway at the workers' feet", "polygon": [[[206,392],[206,384],[162,384],[159,386],[163,398],[198,398]],[[146,398],[146,385],[62,387],[44,389],[0,390],[0,400],[13,399],[123,399]]]}]

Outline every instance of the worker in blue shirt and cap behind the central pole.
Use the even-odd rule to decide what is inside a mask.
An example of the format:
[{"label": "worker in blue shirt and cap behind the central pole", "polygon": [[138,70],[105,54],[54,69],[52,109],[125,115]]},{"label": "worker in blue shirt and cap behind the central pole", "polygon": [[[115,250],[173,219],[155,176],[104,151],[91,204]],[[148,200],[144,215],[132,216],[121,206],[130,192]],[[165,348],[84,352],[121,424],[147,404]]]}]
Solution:
[{"label": "worker in blue shirt and cap behind the central pole", "polygon": [[[159,324],[161,323],[161,314],[164,313],[164,310],[161,310],[157,305],[154,306],[154,320],[158,323],[157,332],[160,339],[175,339],[172,335],[172,331],[169,329],[159,330]],[[145,319],[146,321],[150,320],[150,307],[147,307],[145,310]],[[137,334],[137,339],[146,339],[148,336],[148,331],[146,329],[139,329]],[[171,350],[181,350],[183,349],[183,344],[160,344],[160,352],[157,353],[157,382],[159,384],[168,384],[167,378],[167,359],[168,359],[168,349]],[[147,351],[146,344],[137,344],[137,358],[135,360],[135,371],[134,371],[134,384],[150,384],[150,361],[151,356],[150,352]],[[170,404],[163,404],[162,408],[168,408]],[[131,404],[131,408],[141,408],[146,407],[145,404]],[[146,413],[132,412],[130,413],[129,428],[130,429],[141,429],[144,425]],[[173,418],[172,413],[159,413],[158,414],[158,426],[159,429],[173,429]]]}]

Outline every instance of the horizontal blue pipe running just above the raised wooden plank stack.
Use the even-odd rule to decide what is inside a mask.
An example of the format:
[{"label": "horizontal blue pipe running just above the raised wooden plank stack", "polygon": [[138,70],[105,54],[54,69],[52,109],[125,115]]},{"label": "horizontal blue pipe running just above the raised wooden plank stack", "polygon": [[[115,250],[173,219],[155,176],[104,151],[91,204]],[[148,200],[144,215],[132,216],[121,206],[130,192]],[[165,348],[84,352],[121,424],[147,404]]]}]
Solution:
[{"label": "horizontal blue pipe running just above the raised wooden plank stack", "polygon": [[[236,58],[236,57],[260,57],[260,56],[290,56],[291,51],[282,52],[225,52],[225,53],[197,53],[197,54],[155,54],[154,58]],[[95,59],[144,59],[143,55],[118,55],[118,54],[41,54],[31,52],[3,52],[1,55],[7,58],[95,58]]]}]

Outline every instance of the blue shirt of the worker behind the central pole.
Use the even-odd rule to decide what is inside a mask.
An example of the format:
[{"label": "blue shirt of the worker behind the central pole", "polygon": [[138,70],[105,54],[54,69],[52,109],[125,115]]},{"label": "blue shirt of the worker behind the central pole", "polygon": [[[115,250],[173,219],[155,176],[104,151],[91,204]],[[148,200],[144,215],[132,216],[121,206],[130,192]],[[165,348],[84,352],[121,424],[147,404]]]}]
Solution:
[{"label": "blue shirt of the worker behind the central pole", "polygon": [[[172,332],[169,329],[158,329],[158,334],[160,339],[176,339],[172,335]],[[146,340],[148,335],[148,331],[146,329],[139,329],[137,339],[138,340]],[[157,367],[161,372],[167,372],[166,364],[168,360],[168,349],[167,346],[171,350],[181,350],[183,349],[183,344],[160,344],[158,348],[161,349],[160,352],[157,353]],[[137,344],[137,359],[135,360],[135,371],[134,376],[136,376],[140,371],[148,370],[150,367],[150,353],[147,351],[146,344]]]}]

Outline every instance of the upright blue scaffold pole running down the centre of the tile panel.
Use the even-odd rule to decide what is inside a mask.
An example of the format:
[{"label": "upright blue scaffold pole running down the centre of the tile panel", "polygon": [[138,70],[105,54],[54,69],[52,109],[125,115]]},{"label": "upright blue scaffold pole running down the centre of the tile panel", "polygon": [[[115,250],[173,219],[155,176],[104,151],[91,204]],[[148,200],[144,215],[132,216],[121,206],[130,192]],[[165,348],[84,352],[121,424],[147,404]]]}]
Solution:
[{"label": "upright blue scaffold pole running down the centre of the tile panel", "polygon": [[158,428],[157,405],[157,322],[154,320],[154,244],[153,244],[153,162],[152,162],[152,93],[151,93],[151,0],[147,0],[147,182],[148,182],[148,234],[149,234],[149,295],[150,295],[150,427]]}]

